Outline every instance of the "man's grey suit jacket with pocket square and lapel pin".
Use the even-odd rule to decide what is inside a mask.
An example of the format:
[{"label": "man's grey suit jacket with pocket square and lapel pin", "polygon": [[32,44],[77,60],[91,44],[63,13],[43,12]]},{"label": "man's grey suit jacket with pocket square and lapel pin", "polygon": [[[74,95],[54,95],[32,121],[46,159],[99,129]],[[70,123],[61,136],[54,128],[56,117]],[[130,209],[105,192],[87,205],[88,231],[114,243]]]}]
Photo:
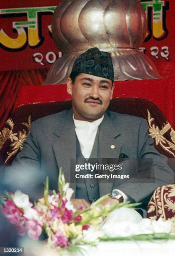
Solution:
[{"label": "man's grey suit jacket with pocket square and lapel pin", "polygon": [[[30,187],[31,195],[36,190],[42,190],[37,182],[38,177],[44,180],[49,176],[50,189],[57,189],[60,167],[66,181],[70,182],[70,159],[76,158],[75,144],[72,110],[34,121],[23,150],[5,171],[6,184],[15,184],[14,190],[20,186],[24,192],[28,192],[27,188]],[[115,145],[115,148],[111,149],[111,145]],[[130,159],[154,159],[149,183],[137,183],[135,179],[123,184],[100,183],[100,196],[118,188],[136,202],[141,202],[150,197],[157,187],[174,182],[174,173],[167,165],[166,157],[155,150],[153,139],[148,134],[147,121],[143,118],[107,111],[100,125],[98,152],[99,158],[118,158],[120,154],[125,154]],[[70,185],[75,190],[75,184]],[[38,192],[38,197],[41,195]]]}]

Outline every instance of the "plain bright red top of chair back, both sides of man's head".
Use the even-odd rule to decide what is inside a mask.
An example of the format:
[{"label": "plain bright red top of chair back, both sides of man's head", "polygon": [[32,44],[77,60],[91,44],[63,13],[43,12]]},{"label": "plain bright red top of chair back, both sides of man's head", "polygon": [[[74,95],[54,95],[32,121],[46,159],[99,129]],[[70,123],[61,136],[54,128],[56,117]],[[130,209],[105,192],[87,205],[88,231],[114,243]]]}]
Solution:
[{"label": "plain bright red top of chair back, both sides of man's head", "polygon": [[[175,79],[115,81],[113,97],[137,97],[151,100],[175,128]],[[65,84],[22,87],[15,108],[33,102],[70,99]]]}]

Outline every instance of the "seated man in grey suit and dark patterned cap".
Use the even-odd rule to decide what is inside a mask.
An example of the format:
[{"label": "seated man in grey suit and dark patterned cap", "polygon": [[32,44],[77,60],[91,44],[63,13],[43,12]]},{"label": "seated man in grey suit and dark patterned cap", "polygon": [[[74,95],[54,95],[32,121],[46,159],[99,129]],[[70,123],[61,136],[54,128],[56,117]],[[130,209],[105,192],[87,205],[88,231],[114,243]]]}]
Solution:
[{"label": "seated man in grey suit and dark patterned cap", "polygon": [[[97,48],[81,54],[67,78],[67,92],[72,95],[72,109],[40,118],[32,123],[23,150],[5,171],[5,183],[31,197],[42,195],[38,180],[50,179],[50,189],[57,189],[58,170],[70,180],[70,159],[153,159],[149,182],[136,178],[125,182],[72,183],[75,207],[89,206],[100,196],[111,193],[102,204],[143,202],[147,205],[154,190],[174,182],[166,157],[159,154],[148,134],[143,118],[108,111],[114,90],[114,69],[109,53]],[[140,176],[141,174],[141,176]],[[137,180],[138,178],[138,180]],[[144,206],[143,206],[144,208]]]}]

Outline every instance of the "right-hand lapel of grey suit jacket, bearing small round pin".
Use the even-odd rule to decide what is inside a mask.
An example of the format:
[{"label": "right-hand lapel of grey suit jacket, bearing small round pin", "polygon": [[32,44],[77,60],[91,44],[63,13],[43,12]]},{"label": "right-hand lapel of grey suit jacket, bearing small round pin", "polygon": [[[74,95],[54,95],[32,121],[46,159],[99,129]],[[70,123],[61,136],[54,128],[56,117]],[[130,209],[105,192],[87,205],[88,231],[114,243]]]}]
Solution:
[{"label": "right-hand lapel of grey suit jacket, bearing small round pin", "polygon": [[[99,132],[99,154],[98,158],[119,158],[121,144],[117,137],[120,136],[120,131],[113,126],[108,114],[105,113],[105,117],[100,125]],[[114,145],[115,148],[111,148]],[[112,183],[99,182],[100,197],[110,193],[112,190]]]}]

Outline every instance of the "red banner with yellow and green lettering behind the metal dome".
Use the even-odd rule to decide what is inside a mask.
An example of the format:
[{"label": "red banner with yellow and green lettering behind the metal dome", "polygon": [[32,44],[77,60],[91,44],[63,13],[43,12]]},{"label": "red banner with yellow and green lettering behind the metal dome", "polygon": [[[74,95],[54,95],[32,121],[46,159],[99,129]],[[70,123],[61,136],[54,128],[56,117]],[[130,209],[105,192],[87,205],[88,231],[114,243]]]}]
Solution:
[{"label": "red banner with yellow and green lettering behind the metal dome", "polygon": [[[50,67],[61,56],[52,39],[51,19],[60,0],[0,3],[0,71]],[[148,31],[140,51],[153,61],[174,61],[175,0],[140,0]]]}]

